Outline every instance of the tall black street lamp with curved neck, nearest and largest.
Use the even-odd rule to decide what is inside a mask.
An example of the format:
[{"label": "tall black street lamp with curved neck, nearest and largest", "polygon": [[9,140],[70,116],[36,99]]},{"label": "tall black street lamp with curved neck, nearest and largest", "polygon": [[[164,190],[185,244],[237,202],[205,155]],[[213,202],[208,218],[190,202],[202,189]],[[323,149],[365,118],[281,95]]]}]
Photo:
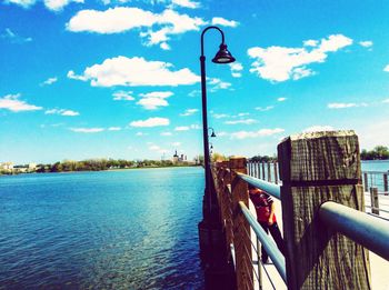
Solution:
[{"label": "tall black street lamp with curved neck, nearest and largest", "polygon": [[206,78],[206,56],[203,49],[203,36],[210,30],[216,29],[221,33],[221,43],[219,46],[219,51],[216,53],[212,62],[215,63],[231,63],[235,58],[228,51],[225,43],[225,33],[218,27],[207,27],[201,33],[201,96],[202,96],[202,136],[203,136],[203,156],[205,156],[205,170],[206,170],[206,189],[203,199],[203,218],[208,220],[209,218],[217,217],[217,212],[212,211],[212,192],[211,192],[211,169],[210,169],[210,158],[209,158],[209,142],[208,142],[208,120],[207,120],[207,78]]}]

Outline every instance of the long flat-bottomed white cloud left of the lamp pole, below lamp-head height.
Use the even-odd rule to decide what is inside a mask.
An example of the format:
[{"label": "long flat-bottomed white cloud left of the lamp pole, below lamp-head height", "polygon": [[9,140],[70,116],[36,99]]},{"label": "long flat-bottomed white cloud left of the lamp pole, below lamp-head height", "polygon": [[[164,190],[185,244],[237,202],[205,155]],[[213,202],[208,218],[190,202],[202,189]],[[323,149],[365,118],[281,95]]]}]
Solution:
[{"label": "long flat-bottomed white cloud left of the lamp pole, below lamp-head height", "polygon": [[113,86],[181,86],[199,82],[200,78],[189,69],[172,71],[173,64],[163,61],[148,61],[143,58],[117,57],[106,59],[101,64],[94,64],[84,70],[82,76],[73,71],[68,78],[91,81],[93,87]]}]

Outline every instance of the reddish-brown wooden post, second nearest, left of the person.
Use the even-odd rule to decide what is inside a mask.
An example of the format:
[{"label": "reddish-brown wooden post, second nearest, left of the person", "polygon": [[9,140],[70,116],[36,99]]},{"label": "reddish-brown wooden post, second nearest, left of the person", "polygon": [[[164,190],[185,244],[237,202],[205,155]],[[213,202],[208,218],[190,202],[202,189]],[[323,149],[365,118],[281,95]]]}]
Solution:
[{"label": "reddish-brown wooden post, second nearest, left of the person", "polygon": [[[250,226],[246,221],[239,207],[239,201],[243,201],[247,207],[249,206],[249,194],[247,190],[247,183],[239,179],[235,173],[246,173],[246,158],[230,158],[230,169],[232,187],[233,247],[236,252],[237,289],[240,290],[247,289],[247,284],[251,284],[253,282],[251,264],[251,241],[250,237],[247,237],[247,232],[250,232]],[[251,283],[248,283],[248,281],[251,281]]]}]

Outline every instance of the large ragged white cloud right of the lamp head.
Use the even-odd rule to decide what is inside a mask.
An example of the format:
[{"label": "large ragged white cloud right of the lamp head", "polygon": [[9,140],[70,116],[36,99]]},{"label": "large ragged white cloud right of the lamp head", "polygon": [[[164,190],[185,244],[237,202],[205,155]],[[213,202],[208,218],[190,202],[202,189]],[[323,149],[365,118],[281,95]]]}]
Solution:
[{"label": "large ragged white cloud right of the lamp head", "polygon": [[325,62],[329,52],[351,46],[352,39],[342,34],[332,34],[316,44],[313,40],[305,41],[303,44],[302,48],[253,47],[248,49],[249,57],[255,59],[250,72],[272,82],[313,76],[316,72],[307,68],[308,64]]}]

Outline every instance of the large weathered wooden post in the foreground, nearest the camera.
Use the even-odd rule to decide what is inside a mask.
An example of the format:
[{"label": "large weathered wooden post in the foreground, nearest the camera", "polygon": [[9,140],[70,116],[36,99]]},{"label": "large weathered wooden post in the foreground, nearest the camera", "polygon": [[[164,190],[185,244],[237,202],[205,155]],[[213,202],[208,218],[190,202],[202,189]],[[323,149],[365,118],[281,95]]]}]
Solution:
[{"label": "large weathered wooden post in the foreground, nearest the camera", "polygon": [[328,200],[365,210],[355,132],[291,136],[278,158],[288,289],[371,289],[369,251],[318,217]]}]

